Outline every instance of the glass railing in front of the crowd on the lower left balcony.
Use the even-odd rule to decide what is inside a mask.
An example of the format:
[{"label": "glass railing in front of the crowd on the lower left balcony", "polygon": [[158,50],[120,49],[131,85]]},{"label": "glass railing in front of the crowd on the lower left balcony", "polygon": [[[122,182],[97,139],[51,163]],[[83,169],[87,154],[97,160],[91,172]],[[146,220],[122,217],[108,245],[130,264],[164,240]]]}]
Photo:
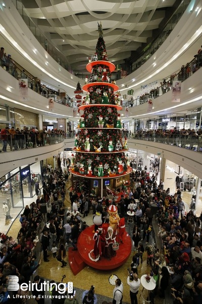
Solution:
[{"label": "glass railing in front of the crowd on the lower left balcony", "polygon": [[64,137],[63,134],[42,132],[0,135],[0,151],[7,152],[57,144],[63,142]]}]

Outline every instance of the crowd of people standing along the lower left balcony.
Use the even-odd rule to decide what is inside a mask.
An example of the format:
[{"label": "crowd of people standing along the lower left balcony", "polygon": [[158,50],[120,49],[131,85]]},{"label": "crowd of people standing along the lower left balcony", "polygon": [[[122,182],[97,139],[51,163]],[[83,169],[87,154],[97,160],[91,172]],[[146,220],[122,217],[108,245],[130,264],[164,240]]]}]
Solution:
[{"label": "crowd of people standing along the lower left balcony", "polygon": [[66,137],[66,133],[63,130],[46,130],[46,127],[43,127],[42,130],[38,130],[37,127],[23,127],[21,130],[20,128],[15,129],[15,127],[5,127],[0,130],[0,135],[4,152],[7,152],[8,145],[11,151],[35,148],[56,143],[58,137]]}]

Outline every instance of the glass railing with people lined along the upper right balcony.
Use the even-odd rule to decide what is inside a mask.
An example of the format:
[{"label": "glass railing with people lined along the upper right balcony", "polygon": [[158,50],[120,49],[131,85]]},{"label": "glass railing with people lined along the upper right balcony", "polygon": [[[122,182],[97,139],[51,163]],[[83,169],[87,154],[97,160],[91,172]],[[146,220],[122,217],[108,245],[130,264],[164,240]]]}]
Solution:
[{"label": "glass railing with people lined along the upper right balcony", "polygon": [[143,103],[148,102],[149,100],[153,100],[169,91],[173,88],[174,81],[185,81],[188,79],[193,73],[195,73],[202,66],[202,51],[197,54],[190,62],[186,63],[186,65],[182,65],[180,71],[178,73],[172,74],[168,80],[164,80],[161,83],[161,87],[154,88],[150,90],[149,93],[139,96],[136,99],[133,97],[130,98],[126,103],[123,103],[126,107],[133,107]]}]

